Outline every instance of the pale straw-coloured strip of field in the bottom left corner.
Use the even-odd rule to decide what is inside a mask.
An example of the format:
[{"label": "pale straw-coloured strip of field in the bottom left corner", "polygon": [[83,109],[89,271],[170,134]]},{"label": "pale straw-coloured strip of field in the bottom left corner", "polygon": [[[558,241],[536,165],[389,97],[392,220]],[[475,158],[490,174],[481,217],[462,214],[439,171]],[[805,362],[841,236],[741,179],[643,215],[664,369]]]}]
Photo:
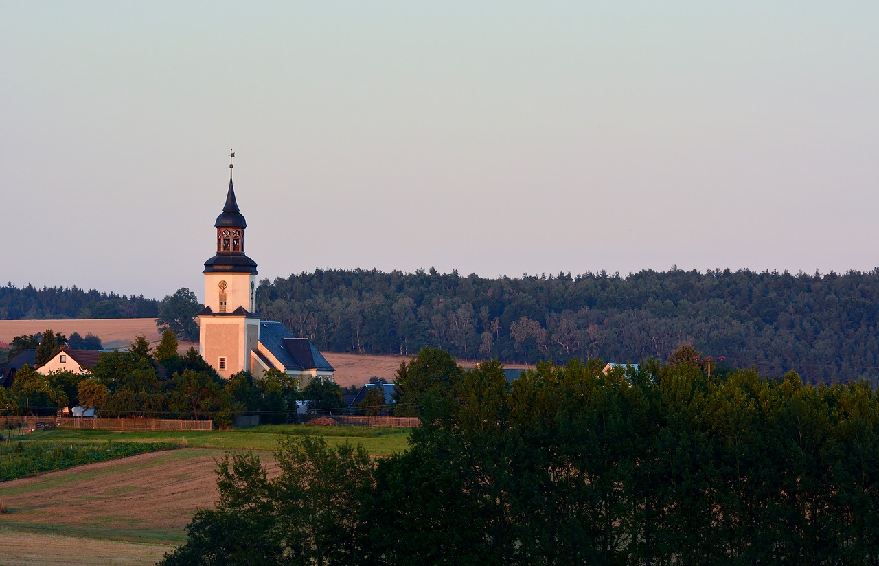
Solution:
[{"label": "pale straw-coloured strip of field in the bottom left corner", "polygon": [[155,564],[171,546],[133,542],[95,541],[55,534],[0,531],[2,566],[94,566],[95,564]]}]

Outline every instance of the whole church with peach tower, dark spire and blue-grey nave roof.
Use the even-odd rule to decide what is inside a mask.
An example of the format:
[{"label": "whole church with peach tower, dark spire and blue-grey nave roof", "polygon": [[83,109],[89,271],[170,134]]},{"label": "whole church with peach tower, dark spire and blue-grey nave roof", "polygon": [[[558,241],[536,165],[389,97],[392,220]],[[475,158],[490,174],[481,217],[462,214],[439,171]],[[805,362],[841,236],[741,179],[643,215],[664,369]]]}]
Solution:
[{"label": "whole church with peach tower, dark spire and blue-grey nave roof", "polygon": [[336,370],[311,340],[263,321],[257,312],[257,262],[244,253],[247,222],[235,198],[231,164],[226,204],[214,227],[216,254],[205,262],[205,308],[198,317],[201,357],[226,379],[240,371],[259,378],[277,369],[297,377],[300,388],[315,379],[332,381]]}]

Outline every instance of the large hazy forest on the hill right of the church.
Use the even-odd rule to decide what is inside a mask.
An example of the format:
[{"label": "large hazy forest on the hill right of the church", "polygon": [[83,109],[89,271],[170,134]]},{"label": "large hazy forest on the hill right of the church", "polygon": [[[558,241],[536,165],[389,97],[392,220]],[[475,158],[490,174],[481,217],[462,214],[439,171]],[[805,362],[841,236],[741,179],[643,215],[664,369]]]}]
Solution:
[{"label": "large hazy forest on the hill right of the church", "polygon": [[462,277],[316,269],[261,281],[258,308],[330,352],[507,363],[667,359],[682,344],[730,366],[811,383],[879,385],[879,269]]}]

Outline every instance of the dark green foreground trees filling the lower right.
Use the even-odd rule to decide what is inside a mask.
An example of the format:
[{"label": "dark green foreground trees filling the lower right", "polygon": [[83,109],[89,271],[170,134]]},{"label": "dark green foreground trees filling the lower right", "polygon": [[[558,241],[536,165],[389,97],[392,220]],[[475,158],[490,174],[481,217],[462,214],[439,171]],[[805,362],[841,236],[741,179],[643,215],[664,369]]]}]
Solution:
[{"label": "dark green foreground trees filling the lower right", "polygon": [[868,384],[709,379],[690,353],[544,362],[511,383],[497,361],[419,352],[443,369],[408,450],[287,436],[273,476],[228,454],[218,504],[162,564],[879,562]]}]

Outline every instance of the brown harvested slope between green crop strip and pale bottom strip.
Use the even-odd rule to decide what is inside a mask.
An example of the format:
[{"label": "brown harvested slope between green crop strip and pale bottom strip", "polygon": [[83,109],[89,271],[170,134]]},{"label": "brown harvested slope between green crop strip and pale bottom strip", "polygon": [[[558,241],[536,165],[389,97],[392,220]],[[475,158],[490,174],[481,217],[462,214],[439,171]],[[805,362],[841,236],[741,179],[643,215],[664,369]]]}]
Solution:
[{"label": "brown harvested slope between green crop strip and pale bottom strip", "polygon": [[222,454],[182,448],[4,482],[0,529],[180,544],[195,511],[214,505]]}]

